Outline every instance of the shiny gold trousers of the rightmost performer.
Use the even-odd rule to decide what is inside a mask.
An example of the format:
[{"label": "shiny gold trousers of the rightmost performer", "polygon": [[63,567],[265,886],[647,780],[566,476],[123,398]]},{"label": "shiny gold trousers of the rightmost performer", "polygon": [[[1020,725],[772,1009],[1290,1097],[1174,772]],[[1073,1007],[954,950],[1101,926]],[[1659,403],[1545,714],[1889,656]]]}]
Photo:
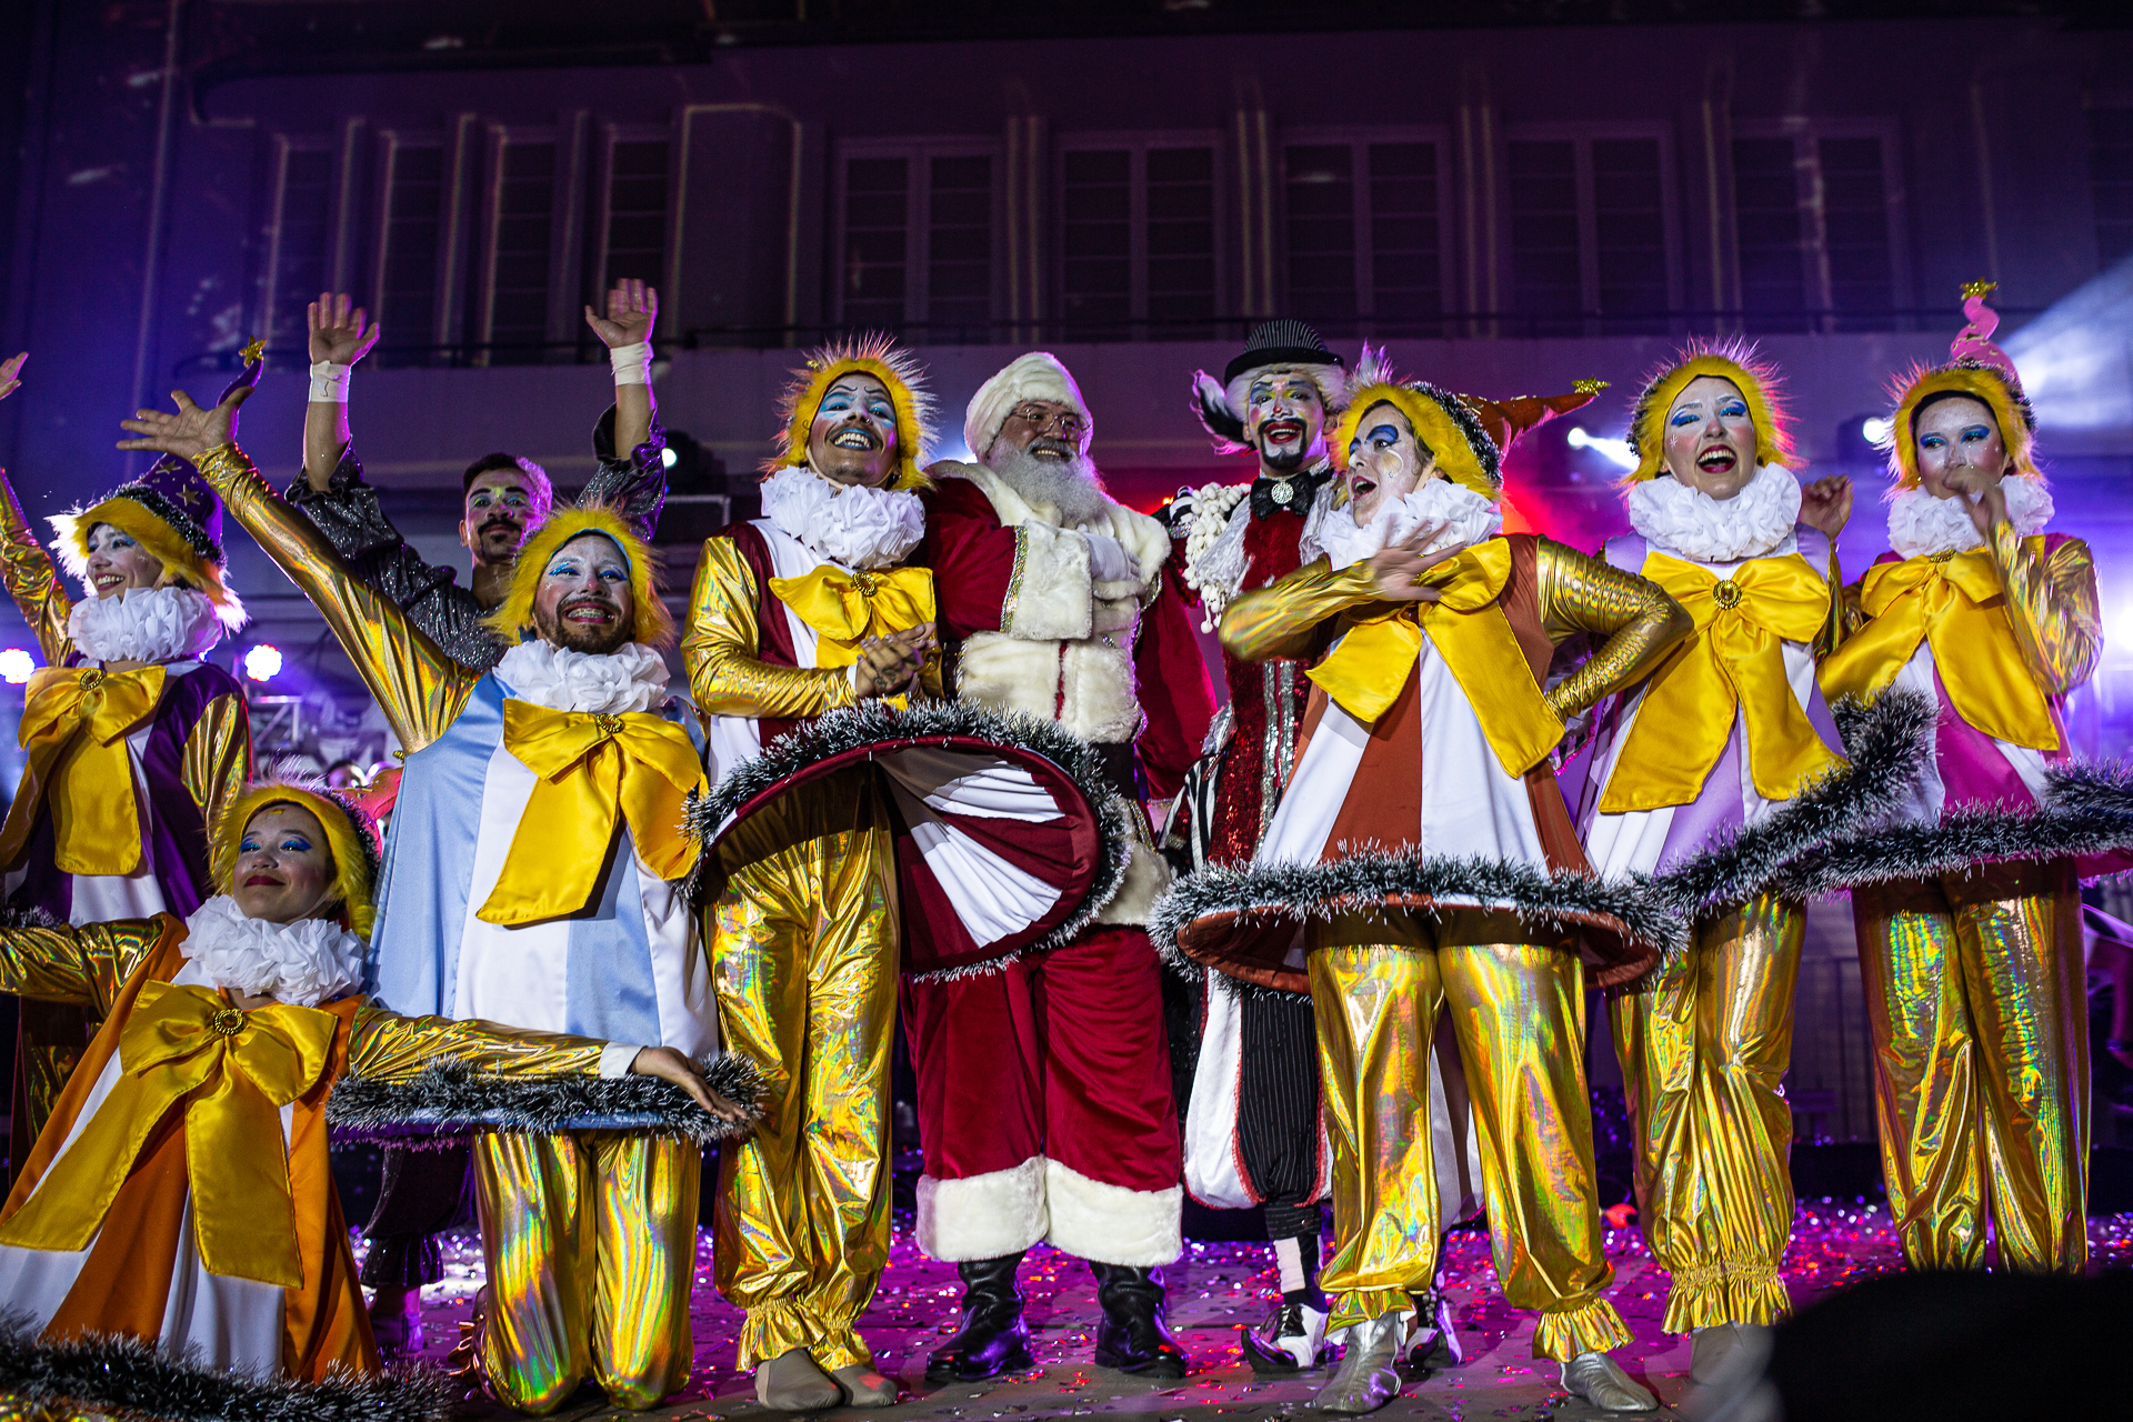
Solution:
[{"label": "shiny gold trousers of the rightmost performer", "polygon": [[2088,1264],[2088,1004],[2073,866],[1856,889],[1888,1207],[1911,1269]]}]

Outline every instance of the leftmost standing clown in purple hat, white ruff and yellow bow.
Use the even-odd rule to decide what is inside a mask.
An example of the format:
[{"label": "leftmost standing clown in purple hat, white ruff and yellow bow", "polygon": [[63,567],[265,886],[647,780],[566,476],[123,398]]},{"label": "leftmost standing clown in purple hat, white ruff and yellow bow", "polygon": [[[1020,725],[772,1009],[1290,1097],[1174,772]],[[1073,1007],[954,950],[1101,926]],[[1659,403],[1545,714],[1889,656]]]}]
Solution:
[{"label": "leftmost standing clown in purple hat, white ruff and yellow bow", "polygon": [[[26,358],[0,362],[0,397]],[[260,369],[254,360],[237,386]],[[0,478],[0,573],[45,655],[23,697],[28,765],[0,829],[0,887],[11,906],[68,923],[188,915],[207,898],[207,827],[252,774],[245,693],[207,661],[245,620],[222,505],[166,458],[51,527],[92,597],[66,595]],[[75,1004],[19,1011],[17,1170],[90,1040]]]}]

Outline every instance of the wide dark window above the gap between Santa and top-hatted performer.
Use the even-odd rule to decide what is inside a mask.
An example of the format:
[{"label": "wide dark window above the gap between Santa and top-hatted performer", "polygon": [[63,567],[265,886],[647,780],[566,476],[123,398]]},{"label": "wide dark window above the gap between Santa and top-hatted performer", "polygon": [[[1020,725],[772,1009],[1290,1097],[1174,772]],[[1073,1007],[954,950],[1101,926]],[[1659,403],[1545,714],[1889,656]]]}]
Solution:
[{"label": "wide dark window above the gap between Santa and top-hatted performer", "polygon": [[1214,147],[1060,153],[1058,313],[1084,339],[1199,335],[1216,313]]}]

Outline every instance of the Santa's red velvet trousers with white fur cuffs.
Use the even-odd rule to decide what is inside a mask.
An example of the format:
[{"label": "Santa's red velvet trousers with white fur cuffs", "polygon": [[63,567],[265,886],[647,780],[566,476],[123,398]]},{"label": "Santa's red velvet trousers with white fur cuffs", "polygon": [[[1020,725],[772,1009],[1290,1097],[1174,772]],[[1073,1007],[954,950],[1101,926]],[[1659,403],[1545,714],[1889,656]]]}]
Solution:
[{"label": "Santa's red velvet trousers with white fur cuffs", "polygon": [[1096,1264],[1180,1249],[1180,1141],[1156,949],[1094,927],[953,981],[904,981],[919,1079],[919,1247],[990,1260],[1037,1241]]}]

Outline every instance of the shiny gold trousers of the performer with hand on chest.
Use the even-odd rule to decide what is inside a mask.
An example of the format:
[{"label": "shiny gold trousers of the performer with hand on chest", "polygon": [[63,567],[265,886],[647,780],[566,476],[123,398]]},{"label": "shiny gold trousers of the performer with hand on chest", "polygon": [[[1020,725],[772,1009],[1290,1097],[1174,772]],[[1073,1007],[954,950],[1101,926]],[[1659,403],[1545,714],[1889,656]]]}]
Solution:
[{"label": "shiny gold trousers of the performer with hand on chest", "polygon": [[[1540,1309],[1534,1356],[1568,1362],[1630,1341],[1602,1298],[1585,972],[1510,915],[1335,919],[1312,930],[1318,1077],[1333,1138],[1333,1326],[1412,1309],[1438,1275],[1442,1222],[1429,1130],[1429,1043],[1448,1011],[1480,1141],[1504,1296]],[[1497,936],[1497,940],[1487,940]]]}]

